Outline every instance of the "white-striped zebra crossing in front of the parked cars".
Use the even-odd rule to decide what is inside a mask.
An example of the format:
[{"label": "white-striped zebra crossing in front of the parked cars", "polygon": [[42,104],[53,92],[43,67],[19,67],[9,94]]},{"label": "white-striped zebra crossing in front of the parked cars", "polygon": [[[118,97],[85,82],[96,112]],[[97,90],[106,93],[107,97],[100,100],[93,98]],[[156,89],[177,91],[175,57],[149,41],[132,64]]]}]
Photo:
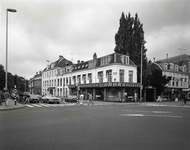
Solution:
[{"label": "white-striped zebra crossing in front of the parked cars", "polygon": [[25,104],[26,107],[29,108],[41,108],[41,107],[63,107],[63,106],[75,106],[75,103],[68,103],[68,104]]}]

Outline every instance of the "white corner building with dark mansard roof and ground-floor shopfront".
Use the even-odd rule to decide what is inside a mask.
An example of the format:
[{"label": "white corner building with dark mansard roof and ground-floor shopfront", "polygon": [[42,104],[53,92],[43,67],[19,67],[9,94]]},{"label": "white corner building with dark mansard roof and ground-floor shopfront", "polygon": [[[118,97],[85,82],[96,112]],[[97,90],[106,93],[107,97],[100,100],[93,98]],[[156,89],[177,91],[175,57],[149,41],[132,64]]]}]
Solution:
[{"label": "white corner building with dark mansard roof and ground-floor shopfront", "polygon": [[92,94],[93,100],[103,101],[121,101],[124,95],[131,101],[135,93],[139,95],[137,66],[127,55],[113,53],[97,58],[95,53],[92,60],[56,68],[56,72],[56,77],[48,79],[54,78],[57,83],[53,87],[55,96],[76,95],[76,85],[85,99],[88,99],[88,93]]}]

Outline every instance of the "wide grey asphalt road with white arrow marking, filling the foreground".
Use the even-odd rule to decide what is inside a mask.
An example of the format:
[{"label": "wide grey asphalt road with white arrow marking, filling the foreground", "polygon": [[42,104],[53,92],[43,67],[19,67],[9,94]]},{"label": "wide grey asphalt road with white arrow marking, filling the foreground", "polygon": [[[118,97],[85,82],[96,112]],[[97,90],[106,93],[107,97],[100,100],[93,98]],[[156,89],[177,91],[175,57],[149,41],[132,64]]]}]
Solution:
[{"label": "wide grey asphalt road with white arrow marking, filling the foreground", "polygon": [[2,150],[189,150],[190,108],[25,107],[0,112]]}]

